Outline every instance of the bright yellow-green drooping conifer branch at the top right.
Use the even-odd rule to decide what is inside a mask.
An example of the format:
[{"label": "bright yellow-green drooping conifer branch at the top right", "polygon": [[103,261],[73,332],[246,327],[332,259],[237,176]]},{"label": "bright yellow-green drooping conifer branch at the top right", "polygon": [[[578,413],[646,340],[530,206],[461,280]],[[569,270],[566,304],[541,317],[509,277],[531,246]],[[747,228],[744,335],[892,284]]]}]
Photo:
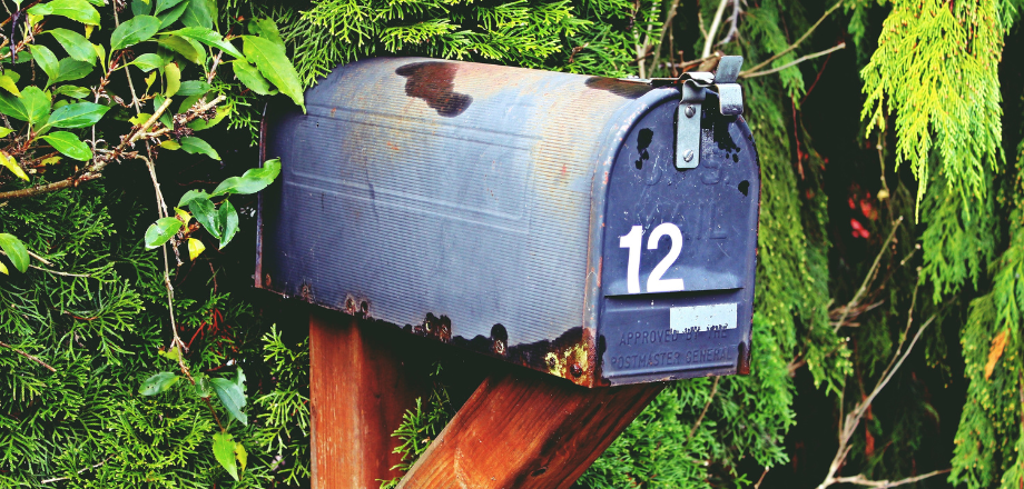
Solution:
[{"label": "bright yellow-green drooping conifer branch at the top right", "polygon": [[861,118],[870,132],[885,130],[886,114],[895,113],[896,161],[909,162],[917,177],[918,203],[934,147],[947,188],[956,190],[967,216],[978,213],[968,204],[991,198],[986,169],[1005,159],[998,61],[1011,19],[1001,14],[998,0],[893,3],[878,49],[860,73],[867,94]]}]

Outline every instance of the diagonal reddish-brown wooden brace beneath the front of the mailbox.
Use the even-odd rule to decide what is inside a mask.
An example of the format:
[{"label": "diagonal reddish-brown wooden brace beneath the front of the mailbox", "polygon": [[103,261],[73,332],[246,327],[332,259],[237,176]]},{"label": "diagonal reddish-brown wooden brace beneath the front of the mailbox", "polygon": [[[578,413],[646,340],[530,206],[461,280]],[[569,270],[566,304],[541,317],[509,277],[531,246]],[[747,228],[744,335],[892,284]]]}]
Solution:
[{"label": "diagonal reddish-brown wooden brace beneath the front of the mailbox", "polygon": [[526,369],[496,373],[398,488],[569,488],[663,387],[585,389]]}]

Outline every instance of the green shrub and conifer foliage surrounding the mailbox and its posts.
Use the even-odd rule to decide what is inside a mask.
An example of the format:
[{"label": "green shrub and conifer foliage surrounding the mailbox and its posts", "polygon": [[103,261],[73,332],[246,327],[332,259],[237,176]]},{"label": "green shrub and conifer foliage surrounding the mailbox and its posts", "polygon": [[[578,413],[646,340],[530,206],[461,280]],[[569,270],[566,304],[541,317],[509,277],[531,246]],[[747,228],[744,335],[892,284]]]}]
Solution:
[{"label": "green shrub and conifer foliage surrounding the mailbox and its posts", "polygon": [[[3,6],[0,487],[308,485],[305,325],[249,287],[269,97],[374,56],[716,52],[745,57],[760,153],[752,373],[669,386],[578,486],[1024,486],[1020,0]],[[424,399],[395,446],[456,408]]]}]

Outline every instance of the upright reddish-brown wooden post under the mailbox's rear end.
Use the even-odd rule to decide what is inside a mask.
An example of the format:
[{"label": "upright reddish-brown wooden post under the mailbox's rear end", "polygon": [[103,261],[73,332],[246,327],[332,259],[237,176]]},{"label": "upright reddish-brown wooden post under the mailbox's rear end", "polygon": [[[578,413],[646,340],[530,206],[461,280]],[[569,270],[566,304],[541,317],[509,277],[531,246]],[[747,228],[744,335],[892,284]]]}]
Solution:
[{"label": "upright reddish-brown wooden post under the mailbox's rear end", "polygon": [[[376,489],[402,473],[392,433],[431,392],[420,338],[314,309],[309,317],[313,488]],[[426,363],[426,365],[424,365]]]}]

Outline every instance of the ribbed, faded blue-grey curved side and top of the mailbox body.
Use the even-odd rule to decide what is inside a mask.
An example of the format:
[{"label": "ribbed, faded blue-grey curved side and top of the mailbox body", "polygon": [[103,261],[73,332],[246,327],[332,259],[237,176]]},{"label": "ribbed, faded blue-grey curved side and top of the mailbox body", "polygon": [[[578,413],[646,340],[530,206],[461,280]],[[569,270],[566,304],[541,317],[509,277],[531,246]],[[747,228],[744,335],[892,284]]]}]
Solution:
[{"label": "ribbed, faded blue-grey curved side and top of the mailbox body", "polygon": [[263,287],[365,299],[398,326],[444,315],[465,339],[501,323],[510,346],[583,327],[595,168],[648,90],[427,59],[337,69],[267,130],[284,184],[264,201]]}]

